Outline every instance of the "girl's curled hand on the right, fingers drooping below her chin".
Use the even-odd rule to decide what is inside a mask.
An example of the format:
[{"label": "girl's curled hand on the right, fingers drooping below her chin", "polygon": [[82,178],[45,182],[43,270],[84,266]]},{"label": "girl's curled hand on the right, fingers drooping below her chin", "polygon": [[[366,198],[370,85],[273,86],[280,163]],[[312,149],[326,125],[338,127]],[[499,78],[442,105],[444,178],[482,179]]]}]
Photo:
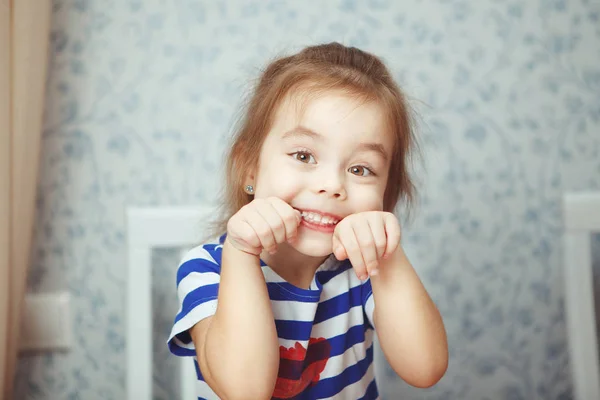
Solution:
[{"label": "girl's curled hand on the right, fingers drooping below her chin", "polygon": [[351,214],[338,222],[333,232],[333,254],[350,259],[359,279],[377,275],[379,263],[391,256],[400,244],[400,224],[385,211]]}]

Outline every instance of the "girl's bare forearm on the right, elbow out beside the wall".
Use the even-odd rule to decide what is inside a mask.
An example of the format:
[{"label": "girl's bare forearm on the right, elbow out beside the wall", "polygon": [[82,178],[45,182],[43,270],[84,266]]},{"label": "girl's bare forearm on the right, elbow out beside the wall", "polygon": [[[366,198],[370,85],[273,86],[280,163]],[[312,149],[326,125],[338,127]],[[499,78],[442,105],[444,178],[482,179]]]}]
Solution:
[{"label": "girl's bare forearm on the right, elbow out beside the wall", "polygon": [[401,246],[383,261],[371,285],[377,336],[388,362],[411,385],[435,384],[447,368],[446,331]]}]

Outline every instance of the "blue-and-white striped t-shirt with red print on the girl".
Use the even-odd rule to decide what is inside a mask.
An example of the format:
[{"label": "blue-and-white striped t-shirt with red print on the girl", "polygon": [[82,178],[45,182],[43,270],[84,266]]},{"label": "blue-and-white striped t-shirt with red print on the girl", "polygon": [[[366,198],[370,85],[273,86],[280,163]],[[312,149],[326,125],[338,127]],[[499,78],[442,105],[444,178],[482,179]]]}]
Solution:
[{"label": "blue-and-white striped t-shirt with red print on the girl", "polygon": [[[188,329],[214,315],[224,237],[189,251],[177,271],[180,308],[168,345],[194,357],[200,399],[218,399],[204,382]],[[348,261],[332,255],[308,289],[287,283],[264,262],[275,326],[279,372],[273,399],[377,399],[373,365],[373,295]]]}]

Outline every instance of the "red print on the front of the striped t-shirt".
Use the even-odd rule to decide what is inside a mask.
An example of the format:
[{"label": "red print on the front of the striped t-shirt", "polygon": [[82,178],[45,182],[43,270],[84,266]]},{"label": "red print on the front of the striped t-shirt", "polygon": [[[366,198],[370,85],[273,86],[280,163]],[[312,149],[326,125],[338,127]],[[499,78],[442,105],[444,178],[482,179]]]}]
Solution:
[{"label": "red print on the front of the striped t-shirt", "polygon": [[274,399],[289,399],[319,381],[329,360],[331,345],[325,338],[311,338],[308,350],[300,342],[294,347],[279,347],[279,373]]}]

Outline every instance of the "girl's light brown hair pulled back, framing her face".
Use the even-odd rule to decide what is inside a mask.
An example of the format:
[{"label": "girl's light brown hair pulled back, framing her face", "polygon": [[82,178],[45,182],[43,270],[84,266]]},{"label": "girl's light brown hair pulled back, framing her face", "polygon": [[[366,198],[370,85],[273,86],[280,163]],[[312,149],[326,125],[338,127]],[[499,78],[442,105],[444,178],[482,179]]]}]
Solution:
[{"label": "girl's light brown hair pulled back, framing her face", "polygon": [[383,106],[388,126],[395,136],[384,210],[393,212],[400,200],[407,211],[410,210],[415,199],[415,186],[409,173],[410,155],[416,147],[412,111],[378,57],[334,42],[306,47],[297,54],[279,58],[260,76],[227,154],[221,210],[211,234],[225,233],[229,218],[252,201],[253,196],[244,192],[246,174],[257,168],[262,144],[282,100],[301,88],[306,88],[309,95],[342,90]]}]

